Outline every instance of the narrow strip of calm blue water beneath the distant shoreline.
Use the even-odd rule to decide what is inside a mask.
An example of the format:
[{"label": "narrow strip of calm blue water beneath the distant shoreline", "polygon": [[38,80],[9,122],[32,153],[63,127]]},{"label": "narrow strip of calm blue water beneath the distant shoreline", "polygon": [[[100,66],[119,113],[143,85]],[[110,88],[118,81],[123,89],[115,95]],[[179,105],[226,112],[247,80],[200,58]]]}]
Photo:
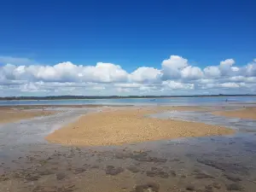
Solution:
[{"label": "narrow strip of calm blue water beneath the distant shoreline", "polygon": [[[226,102],[226,100],[228,102]],[[256,96],[223,96],[223,97],[185,97],[157,99],[81,99],[81,100],[39,100],[39,101],[0,101],[0,106],[12,105],[226,105],[256,103]]]}]

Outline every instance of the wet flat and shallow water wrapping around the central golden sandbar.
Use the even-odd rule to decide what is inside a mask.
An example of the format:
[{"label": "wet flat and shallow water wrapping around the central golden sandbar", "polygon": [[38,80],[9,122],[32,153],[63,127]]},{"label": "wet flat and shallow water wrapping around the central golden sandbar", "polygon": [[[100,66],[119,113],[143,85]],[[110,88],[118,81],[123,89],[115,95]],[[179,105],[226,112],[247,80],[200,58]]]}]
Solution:
[{"label": "wet flat and shallow water wrapping around the central golden sandbar", "polygon": [[255,191],[255,120],[172,111],[152,116],[225,125],[237,133],[90,148],[44,141],[84,112],[70,109],[2,125],[0,191]]}]

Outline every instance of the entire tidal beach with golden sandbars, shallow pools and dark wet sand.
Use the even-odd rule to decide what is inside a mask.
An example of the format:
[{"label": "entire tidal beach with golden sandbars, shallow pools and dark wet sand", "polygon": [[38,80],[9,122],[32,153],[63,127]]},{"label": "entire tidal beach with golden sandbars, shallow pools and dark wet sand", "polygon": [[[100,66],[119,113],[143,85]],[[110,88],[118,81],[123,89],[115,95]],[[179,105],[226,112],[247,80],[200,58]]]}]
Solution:
[{"label": "entire tidal beach with golden sandbars, shallow pools and dark wet sand", "polygon": [[249,114],[251,107],[63,104],[1,110],[8,119],[0,129],[1,192],[255,189],[256,121],[224,115]]}]

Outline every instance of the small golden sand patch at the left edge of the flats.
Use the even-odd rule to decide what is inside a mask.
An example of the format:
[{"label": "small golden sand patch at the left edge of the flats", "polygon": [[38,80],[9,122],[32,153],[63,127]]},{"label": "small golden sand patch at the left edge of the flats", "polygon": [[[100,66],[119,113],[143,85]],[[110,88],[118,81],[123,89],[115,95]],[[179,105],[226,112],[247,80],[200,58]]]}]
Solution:
[{"label": "small golden sand patch at the left edge of the flats", "polygon": [[43,111],[43,110],[22,110],[22,109],[12,109],[12,108],[0,108],[0,124],[15,122],[20,119],[31,119],[38,116],[50,115],[55,112]]}]

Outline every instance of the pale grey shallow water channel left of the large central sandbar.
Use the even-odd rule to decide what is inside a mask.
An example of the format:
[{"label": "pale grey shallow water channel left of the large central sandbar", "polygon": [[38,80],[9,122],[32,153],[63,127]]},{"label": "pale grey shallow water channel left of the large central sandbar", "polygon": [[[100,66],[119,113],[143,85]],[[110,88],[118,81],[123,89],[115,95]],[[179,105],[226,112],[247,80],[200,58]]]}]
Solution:
[{"label": "pale grey shallow water channel left of the large central sandbar", "polygon": [[[42,109],[32,109],[42,110]],[[78,119],[80,115],[98,110],[97,108],[44,108],[57,111],[53,115],[23,119],[15,123],[0,125],[0,162],[26,154],[35,146],[48,144],[44,137]],[[2,160],[1,158],[4,158]],[[1,171],[1,168],[0,168]]]}]

